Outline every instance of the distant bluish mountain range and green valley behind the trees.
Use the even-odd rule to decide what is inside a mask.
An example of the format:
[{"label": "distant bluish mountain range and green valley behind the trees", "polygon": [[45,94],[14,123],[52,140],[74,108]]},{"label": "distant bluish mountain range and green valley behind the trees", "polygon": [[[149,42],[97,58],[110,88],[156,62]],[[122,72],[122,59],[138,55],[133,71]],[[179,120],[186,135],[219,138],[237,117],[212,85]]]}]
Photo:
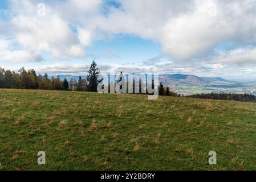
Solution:
[{"label": "distant bluish mountain range and green valley behind the trees", "polygon": [[[116,79],[119,75],[116,75]],[[58,76],[51,76],[58,77]],[[103,76],[106,81],[108,76]],[[59,75],[60,80],[66,78],[68,81],[71,79],[79,80],[79,76],[72,75]],[[86,76],[82,76],[83,79]],[[256,82],[235,82],[225,80],[221,77],[198,77],[195,75],[182,75],[182,74],[162,74],[159,75],[159,81],[164,85],[168,85],[171,90],[180,94],[197,94],[197,93],[253,93],[256,94]]]}]

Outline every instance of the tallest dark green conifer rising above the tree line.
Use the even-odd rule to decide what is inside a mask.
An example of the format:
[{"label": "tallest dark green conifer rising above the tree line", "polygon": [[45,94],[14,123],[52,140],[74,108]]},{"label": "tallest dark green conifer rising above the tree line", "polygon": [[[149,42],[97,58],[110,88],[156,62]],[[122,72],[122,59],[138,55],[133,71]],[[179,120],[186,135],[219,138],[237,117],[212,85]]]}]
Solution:
[{"label": "tallest dark green conifer rising above the tree line", "polygon": [[89,73],[87,76],[87,81],[89,82],[88,91],[97,92],[97,85],[103,79],[98,80],[98,78],[100,77],[100,70],[99,68],[97,68],[97,64],[95,63],[95,61],[92,61],[92,64],[88,73]]}]

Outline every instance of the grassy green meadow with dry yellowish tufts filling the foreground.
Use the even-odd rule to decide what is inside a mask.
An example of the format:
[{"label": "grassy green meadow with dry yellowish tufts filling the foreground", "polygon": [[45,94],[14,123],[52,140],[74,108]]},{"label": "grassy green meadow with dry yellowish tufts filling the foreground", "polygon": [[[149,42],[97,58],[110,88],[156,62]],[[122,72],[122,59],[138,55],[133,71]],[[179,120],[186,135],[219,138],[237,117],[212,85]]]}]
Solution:
[{"label": "grassy green meadow with dry yellowish tufts filling the foreground", "polygon": [[255,103],[0,90],[0,170],[255,170],[255,131]]}]

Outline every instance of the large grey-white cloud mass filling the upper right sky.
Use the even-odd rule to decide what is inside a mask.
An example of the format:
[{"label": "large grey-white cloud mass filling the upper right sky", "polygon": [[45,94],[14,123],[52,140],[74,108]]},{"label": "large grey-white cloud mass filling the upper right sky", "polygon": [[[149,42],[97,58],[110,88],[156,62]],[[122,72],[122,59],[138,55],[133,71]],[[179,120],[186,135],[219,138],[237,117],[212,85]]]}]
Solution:
[{"label": "large grey-white cloud mass filling the upper right sky", "polygon": [[95,27],[160,42],[162,52],[177,61],[207,56],[219,42],[256,41],[255,1],[129,0],[121,5]]}]

